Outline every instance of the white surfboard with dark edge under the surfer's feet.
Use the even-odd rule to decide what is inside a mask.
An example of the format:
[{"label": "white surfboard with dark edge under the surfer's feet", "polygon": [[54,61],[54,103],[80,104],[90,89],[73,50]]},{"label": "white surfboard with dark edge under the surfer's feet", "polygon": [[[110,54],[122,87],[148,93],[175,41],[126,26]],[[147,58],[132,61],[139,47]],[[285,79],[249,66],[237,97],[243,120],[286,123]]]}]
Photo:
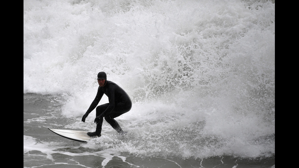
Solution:
[{"label": "white surfboard with dark edge under the surfer's feet", "polygon": [[52,128],[48,128],[48,129],[59,136],[62,136],[64,138],[71,139],[74,141],[87,142],[88,140],[91,139],[91,137],[87,135],[87,131],[58,130],[58,129],[52,129]]}]

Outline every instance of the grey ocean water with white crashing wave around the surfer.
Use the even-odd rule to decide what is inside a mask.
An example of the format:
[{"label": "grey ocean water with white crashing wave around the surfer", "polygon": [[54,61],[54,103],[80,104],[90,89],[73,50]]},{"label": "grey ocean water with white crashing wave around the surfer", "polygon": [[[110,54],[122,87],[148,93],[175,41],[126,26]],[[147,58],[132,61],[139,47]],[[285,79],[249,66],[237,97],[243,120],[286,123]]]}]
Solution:
[{"label": "grey ocean water with white crashing wave around the surfer", "polygon": [[[100,71],[128,134],[48,130],[95,130]],[[23,167],[275,168],[275,1],[23,1]]]}]

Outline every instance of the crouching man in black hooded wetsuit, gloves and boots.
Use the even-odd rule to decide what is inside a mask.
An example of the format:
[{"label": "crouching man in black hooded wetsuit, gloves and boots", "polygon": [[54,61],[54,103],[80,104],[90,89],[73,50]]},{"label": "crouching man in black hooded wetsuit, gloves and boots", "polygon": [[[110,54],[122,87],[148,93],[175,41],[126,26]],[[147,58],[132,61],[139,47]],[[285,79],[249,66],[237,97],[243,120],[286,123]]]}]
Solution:
[{"label": "crouching man in black hooded wetsuit, gloves and boots", "polygon": [[132,107],[132,102],[128,94],[117,84],[107,80],[105,72],[98,73],[98,92],[95,99],[91,103],[90,107],[82,117],[82,121],[85,122],[86,117],[95,107],[99,104],[103,95],[107,95],[109,103],[99,105],[96,107],[96,129],[95,132],[88,132],[87,134],[91,137],[100,137],[102,131],[103,118],[119,133],[124,134],[115,117],[118,117],[128,111]]}]

